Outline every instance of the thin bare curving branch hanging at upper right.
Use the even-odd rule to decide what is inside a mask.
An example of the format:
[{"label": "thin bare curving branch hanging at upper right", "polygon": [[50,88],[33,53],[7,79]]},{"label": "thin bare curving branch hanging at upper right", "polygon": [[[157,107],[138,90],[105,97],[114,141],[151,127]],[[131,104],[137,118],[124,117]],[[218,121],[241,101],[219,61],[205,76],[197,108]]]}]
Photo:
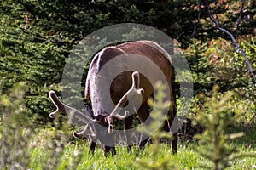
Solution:
[{"label": "thin bare curving branch hanging at upper right", "polygon": [[[201,0],[200,0],[201,1]],[[220,24],[218,23],[218,20],[215,20],[214,17],[212,16],[211,13],[211,8],[209,6],[209,4],[207,3],[207,0],[204,0],[204,3],[207,6],[207,11],[208,14],[210,16],[210,19],[212,20],[212,22],[214,22],[214,24],[218,27],[218,30],[223,31],[225,34],[227,34],[230,38],[231,41],[234,43],[235,47],[238,49],[238,51],[241,53],[242,57],[246,60],[247,62],[247,66],[248,66],[248,70],[251,72],[251,75],[253,77],[254,82],[256,82],[256,77],[253,73],[253,68],[252,65],[250,64],[250,61],[247,59],[246,54],[244,53],[244,51],[240,48],[240,46],[237,44],[235,37],[230,33],[230,31],[225,30],[223,27],[220,26]]]}]

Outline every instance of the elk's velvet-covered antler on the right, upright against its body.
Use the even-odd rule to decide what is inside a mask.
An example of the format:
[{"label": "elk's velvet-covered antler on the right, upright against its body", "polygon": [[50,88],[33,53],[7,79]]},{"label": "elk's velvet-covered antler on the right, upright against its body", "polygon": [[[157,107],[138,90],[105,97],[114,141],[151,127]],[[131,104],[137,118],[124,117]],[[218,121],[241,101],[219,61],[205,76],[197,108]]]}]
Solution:
[{"label": "elk's velvet-covered antler on the right, upright against its body", "polygon": [[108,133],[113,132],[113,117],[119,120],[125,120],[125,118],[129,115],[129,111],[125,111],[125,115],[119,115],[122,107],[125,103],[131,99],[135,94],[143,94],[143,88],[139,88],[140,77],[138,71],[134,71],[131,75],[132,77],[132,85],[131,88],[125,93],[125,95],[119,100],[119,103],[114,107],[113,111],[109,116],[105,118],[105,121],[108,122]]}]

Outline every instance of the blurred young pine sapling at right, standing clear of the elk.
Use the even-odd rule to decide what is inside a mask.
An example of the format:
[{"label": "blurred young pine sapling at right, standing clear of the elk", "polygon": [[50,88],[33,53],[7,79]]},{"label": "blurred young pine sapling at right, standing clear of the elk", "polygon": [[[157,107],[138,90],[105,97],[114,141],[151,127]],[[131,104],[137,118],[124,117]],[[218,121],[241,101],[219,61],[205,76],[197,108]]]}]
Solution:
[{"label": "blurred young pine sapling at right, standing clear of the elk", "polygon": [[[228,147],[232,139],[241,138],[244,133],[228,133],[227,127],[231,125],[234,120],[228,100],[232,96],[229,94],[219,94],[219,87],[217,85],[212,88],[212,98],[206,98],[201,94],[200,98],[205,101],[202,108],[197,111],[197,115],[192,117],[194,124],[201,125],[205,128],[202,134],[195,136],[199,139],[201,150],[195,150],[207,160],[212,161],[213,169],[220,170],[231,166],[231,162],[235,159],[245,156],[236,155],[238,150],[235,147]],[[204,168],[210,168],[202,166]]]}]

